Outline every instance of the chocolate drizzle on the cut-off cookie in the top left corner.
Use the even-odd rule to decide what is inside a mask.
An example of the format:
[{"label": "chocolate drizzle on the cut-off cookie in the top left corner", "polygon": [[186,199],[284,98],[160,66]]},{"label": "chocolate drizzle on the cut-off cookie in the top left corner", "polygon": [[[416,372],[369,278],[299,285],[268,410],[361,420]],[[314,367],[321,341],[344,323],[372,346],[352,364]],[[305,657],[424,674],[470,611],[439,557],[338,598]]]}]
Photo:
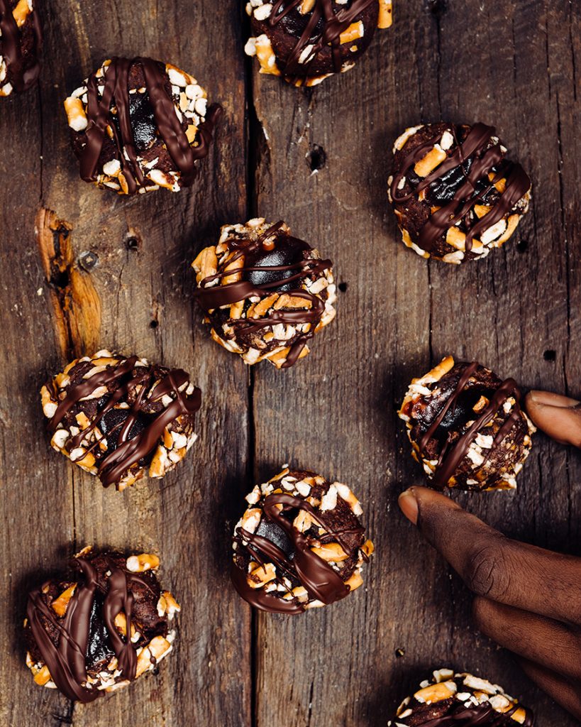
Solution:
[{"label": "chocolate drizzle on the cut-off cookie in the top left corner", "polygon": [[31,11],[34,47],[31,53],[23,55],[22,36],[16,23],[9,0],[0,0],[0,57],[7,65],[7,81],[15,91],[27,91],[36,83],[41,71],[38,54],[42,48],[42,32],[36,9]]}]

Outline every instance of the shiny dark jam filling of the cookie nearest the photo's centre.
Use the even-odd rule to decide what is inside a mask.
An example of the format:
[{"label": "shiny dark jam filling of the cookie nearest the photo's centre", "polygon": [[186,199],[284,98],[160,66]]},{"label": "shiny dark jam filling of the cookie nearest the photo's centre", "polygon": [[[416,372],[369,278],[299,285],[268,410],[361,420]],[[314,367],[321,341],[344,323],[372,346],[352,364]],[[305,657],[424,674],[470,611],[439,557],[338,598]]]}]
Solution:
[{"label": "shiny dark jam filling of the cookie nearest the photo's centre", "polygon": [[[309,246],[296,238],[282,237],[276,241],[276,247],[273,250],[265,250],[261,247],[254,253],[248,254],[245,259],[245,268],[277,268],[284,265],[297,265],[298,262],[304,260],[304,252]],[[289,290],[300,287],[298,281],[285,284],[287,278],[296,276],[300,272],[297,268],[293,270],[248,270],[245,272],[245,280],[250,281],[255,286],[267,285],[281,281],[280,285],[272,286],[267,291],[270,292],[288,292]]]}]

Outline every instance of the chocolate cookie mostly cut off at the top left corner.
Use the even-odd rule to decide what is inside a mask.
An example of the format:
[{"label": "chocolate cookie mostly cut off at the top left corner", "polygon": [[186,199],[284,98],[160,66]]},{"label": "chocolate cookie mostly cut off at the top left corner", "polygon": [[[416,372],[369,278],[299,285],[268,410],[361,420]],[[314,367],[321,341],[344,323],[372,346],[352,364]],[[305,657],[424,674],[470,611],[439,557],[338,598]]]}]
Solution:
[{"label": "chocolate cookie mostly cut off at the top left corner", "polygon": [[41,71],[38,0],[0,0],[0,97],[28,91]]}]

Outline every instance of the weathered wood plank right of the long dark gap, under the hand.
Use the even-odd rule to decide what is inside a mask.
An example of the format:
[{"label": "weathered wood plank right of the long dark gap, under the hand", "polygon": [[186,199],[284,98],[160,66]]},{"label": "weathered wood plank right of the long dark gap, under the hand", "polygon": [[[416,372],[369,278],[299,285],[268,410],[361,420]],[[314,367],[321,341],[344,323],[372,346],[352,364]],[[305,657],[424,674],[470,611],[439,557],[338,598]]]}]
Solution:
[{"label": "weathered wood plank right of the long dark gap, under the hand", "polygon": [[[394,28],[341,79],[297,91],[256,76],[266,132],[257,212],[316,242],[348,284],[336,324],[306,361],[256,371],[257,476],[290,461],[344,479],[362,497],[377,545],[365,593],[297,619],[259,616],[259,727],[383,725],[411,683],[445,663],[505,683],[536,705],[539,723],[574,724],[474,631],[470,596],[399,516],[397,494],[421,475],[394,409],[410,377],[445,353],[479,358],[524,385],[581,393],[578,25],[564,1],[402,2]],[[535,187],[516,241],[460,269],[404,249],[385,195],[391,142],[440,117],[496,124]],[[327,163],[311,175],[314,144]],[[553,349],[557,361],[545,361]],[[518,494],[460,500],[508,534],[570,549],[580,458],[542,435],[535,451]]]}]

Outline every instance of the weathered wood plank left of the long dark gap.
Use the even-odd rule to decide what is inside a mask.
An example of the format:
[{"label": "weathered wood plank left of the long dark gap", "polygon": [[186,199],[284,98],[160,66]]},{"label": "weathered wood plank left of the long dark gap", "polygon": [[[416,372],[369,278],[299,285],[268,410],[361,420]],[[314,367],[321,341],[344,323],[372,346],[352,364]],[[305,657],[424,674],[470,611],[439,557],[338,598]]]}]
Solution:
[{"label": "weathered wood plank left of the long dark gap", "polygon": [[[17,675],[18,684],[10,690],[5,712],[2,707],[7,724],[49,724],[52,712],[72,715],[78,727],[206,725],[208,715],[215,723],[250,721],[250,614],[227,585],[228,549],[222,547],[224,516],[234,518],[238,509],[229,493],[239,487],[246,467],[247,374],[239,361],[221,366],[216,374],[219,351],[193,308],[190,270],[203,239],[214,238],[224,220],[245,214],[245,79],[237,31],[241,12],[235,0],[219,8],[211,1],[192,8],[155,0],[91,1],[82,7],[71,0],[45,7],[47,51],[40,103],[36,115],[19,130],[10,158],[1,162],[7,174],[17,168],[19,153],[26,158],[24,150],[31,147],[25,164],[30,179],[22,182],[22,196],[14,200],[5,188],[1,204],[8,263],[1,273],[3,305],[15,312],[14,323],[7,319],[3,390],[17,394],[2,408],[8,425],[4,472],[12,498],[6,515],[12,522],[3,532],[10,556],[4,565],[5,581],[12,570],[16,583],[26,577],[28,584],[30,571],[59,565],[73,545],[145,548],[159,553],[161,579],[171,585],[183,610],[175,653],[161,665],[157,678],[139,680],[126,691],[73,710],[54,692],[34,688],[22,664],[22,649],[14,646],[18,635],[11,615],[9,629],[3,624],[1,635],[2,648],[11,656],[1,660],[1,669],[4,683],[12,683]],[[203,163],[191,191],[123,199],[78,179],[62,98],[110,55],[151,55],[180,65],[198,77],[212,100],[223,103],[219,145]],[[17,103],[19,107],[10,100],[0,109],[3,125],[15,132],[17,109],[27,104],[34,108],[34,95]],[[36,391],[48,371],[60,366],[60,358],[49,291],[33,249],[39,201],[70,222],[76,256],[90,250],[99,257],[90,277],[102,299],[101,345],[182,366],[203,391],[200,440],[161,482],[139,483],[123,494],[104,490],[95,478],[73,470],[48,449]],[[9,234],[10,228],[17,228],[16,236]],[[137,246],[129,238],[135,238]],[[23,248],[26,268],[15,292],[11,282]],[[36,296],[39,287],[42,295]],[[23,332],[30,347],[24,352],[18,345]],[[19,427],[14,451],[9,433],[17,436]],[[224,448],[226,441],[229,446]],[[31,457],[43,464],[31,467]],[[46,498],[54,508],[50,518]],[[38,526],[25,527],[29,518]],[[16,540],[15,530],[25,534],[27,542]],[[14,607],[18,621],[24,603],[19,592]]]}]

